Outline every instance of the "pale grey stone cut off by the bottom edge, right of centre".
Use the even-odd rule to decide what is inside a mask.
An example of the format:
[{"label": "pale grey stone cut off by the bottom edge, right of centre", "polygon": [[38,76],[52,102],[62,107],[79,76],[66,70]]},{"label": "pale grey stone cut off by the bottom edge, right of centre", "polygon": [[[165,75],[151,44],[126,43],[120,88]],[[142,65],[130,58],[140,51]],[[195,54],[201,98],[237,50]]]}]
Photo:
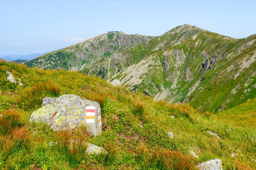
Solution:
[{"label": "pale grey stone cut off by the bottom edge, right of centre", "polygon": [[220,159],[211,159],[196,166],[200,170],[222,170]]}]

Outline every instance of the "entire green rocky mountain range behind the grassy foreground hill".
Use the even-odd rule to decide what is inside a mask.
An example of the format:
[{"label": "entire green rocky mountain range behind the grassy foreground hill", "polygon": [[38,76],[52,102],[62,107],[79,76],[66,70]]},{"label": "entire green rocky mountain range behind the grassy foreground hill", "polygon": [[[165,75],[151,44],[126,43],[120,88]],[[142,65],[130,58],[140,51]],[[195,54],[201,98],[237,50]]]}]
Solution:
[{"label": "entire green rocky mountain range behind the grassy foreground hill", "polygon": [[256,95],[256,34],[243,39],[182,25],[161,36],[101,34],[25,62],[118,79],[156,100],[220,112]]}]

